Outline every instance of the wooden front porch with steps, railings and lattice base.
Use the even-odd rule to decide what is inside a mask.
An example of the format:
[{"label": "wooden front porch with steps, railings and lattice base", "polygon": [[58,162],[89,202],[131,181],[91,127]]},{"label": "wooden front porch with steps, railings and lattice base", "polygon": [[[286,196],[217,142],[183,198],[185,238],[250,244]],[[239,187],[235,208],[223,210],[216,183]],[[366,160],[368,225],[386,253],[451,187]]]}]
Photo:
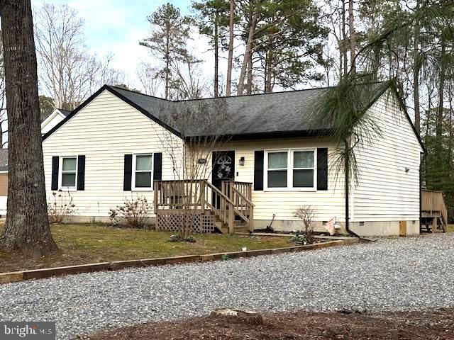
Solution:
[{"label": "wooden front porch with steps, railings and lattice base", "polygon": [[157,229],[233,234],[253,231],[252,183],[223,181],[221,190],[203,179],[155,181]]}]

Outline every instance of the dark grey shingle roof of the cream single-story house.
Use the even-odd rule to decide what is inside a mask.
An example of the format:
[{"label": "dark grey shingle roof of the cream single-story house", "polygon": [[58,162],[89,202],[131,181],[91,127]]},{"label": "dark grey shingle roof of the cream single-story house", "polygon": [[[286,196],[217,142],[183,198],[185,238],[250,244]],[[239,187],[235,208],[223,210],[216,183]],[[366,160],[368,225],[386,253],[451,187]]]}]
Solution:
[{"label": "dark grey shingle roof of the cream single-story house", "polygon": [[[180,130],[172,123],[170,116],[178,111],[191,108],[196,110],[201,103],[213,108],[225,107],[228,123],[223,126],[225,135],[260,135],[277,132],[302,132],[324,130],[328,127],[318,126],[312,129],[310,118],[314,113],[316,99],[326,89],[307,89],[299,91],[275,92],[272,94],[255,94],[250,96],[232,96],[207,98],[189,101],[166,101],[165,99],[140,94],[135,91],[110,86],[114,92],[121,94],[136,105],[145,109],[150,115]],[[194,127],[185,135],[199,135],[200,129]]]}]

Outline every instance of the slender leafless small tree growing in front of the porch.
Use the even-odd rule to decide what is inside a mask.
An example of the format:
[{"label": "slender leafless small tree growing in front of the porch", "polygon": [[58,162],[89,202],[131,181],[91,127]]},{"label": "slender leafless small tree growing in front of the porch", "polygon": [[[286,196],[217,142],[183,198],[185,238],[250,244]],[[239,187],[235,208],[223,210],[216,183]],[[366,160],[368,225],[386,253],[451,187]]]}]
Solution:
[{"label": "slender leafless small tree growing in front of the porch", "polygon": [[193,232],[196,215],[205,208],[216,188],[204,181],[211,176],[213,153],[223,149],[228,137],[223,136],[230,122],[225,98],[213,101],[188,101],[172,111],[167,123],[181,132],[179,140],[171,132],[160,133],[165,154],[169,155],[175,181],[167,188],[172,192],[174,208],[179,210],[178,233],[187,239]]}]

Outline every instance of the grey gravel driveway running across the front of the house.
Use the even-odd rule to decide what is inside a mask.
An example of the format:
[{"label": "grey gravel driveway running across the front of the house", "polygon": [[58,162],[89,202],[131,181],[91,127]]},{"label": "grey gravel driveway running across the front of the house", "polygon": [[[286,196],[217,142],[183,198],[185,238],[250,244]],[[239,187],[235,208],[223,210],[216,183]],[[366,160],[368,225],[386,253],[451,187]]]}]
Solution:
[{"label": "grey gravel driveway running across the front of the house", "polygon": [[58,339],[110,326],[258,311],[454,307],[454,233],[302,253],[0,285],[0,320],[57,322]]}]

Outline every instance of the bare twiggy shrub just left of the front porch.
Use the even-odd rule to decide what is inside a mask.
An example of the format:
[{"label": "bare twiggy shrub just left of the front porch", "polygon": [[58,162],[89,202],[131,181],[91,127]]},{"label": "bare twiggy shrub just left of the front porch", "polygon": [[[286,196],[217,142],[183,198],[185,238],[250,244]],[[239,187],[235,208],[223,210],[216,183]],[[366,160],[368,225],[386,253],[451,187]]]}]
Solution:
[{"label": "bare twiggy shrub just left of the front porch", "polygon": [[145,196],[125,200],[123,205],[109,210],[109,218],[115,226],[146,229],[153,214],[153,205]]}]

